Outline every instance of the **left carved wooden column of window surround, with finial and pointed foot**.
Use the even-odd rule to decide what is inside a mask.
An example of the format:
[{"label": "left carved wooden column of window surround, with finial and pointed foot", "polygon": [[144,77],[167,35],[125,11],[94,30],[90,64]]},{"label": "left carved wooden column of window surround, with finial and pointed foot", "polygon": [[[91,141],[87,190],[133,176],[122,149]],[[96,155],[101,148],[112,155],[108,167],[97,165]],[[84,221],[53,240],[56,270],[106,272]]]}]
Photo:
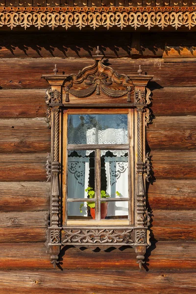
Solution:
[{"label": "left carved wooden column of window surround, with finial and pointed foot", "polygon": [[[46,91],[46,103],[49,105],[47,112],[47,122],[51,127],[51,156],[50,156],[50,225],[49,225],[49,252],[53,267],[58,261],[58,254],[61,246],[61,224],[60,224],[60,115],[62,106],[62,83],[65,79],[57,77],[57,67],[53,70],[53,75],[45,75],[44,78],[49,82],[50,87]],[[48,159],[49,161],[49,159]],[[49,163],[49,162],[47,162]],[[47,173],[49,166],[47,164]]]}]

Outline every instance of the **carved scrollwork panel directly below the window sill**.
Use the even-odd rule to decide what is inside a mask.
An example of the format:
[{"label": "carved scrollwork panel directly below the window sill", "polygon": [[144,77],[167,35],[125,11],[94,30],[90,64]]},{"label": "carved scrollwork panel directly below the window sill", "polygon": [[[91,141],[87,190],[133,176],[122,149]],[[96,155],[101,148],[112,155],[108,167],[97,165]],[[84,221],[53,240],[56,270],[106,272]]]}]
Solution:
[{"label": "carved scrollwork panel directly below the window sill", "polygon": [[133,244],[132,230],[121,229],[64,229],[65,239],[63,244]]}]

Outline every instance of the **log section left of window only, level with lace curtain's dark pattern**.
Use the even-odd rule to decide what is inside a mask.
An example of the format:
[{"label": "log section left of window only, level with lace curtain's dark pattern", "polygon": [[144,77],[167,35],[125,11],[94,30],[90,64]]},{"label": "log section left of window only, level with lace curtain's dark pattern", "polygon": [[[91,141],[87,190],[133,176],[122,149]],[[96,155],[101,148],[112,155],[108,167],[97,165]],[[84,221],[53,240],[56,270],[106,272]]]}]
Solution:
[{"label": "log section left of window only, level with lace curtain's dark pattern", "polygon": [[1,181],[46,181],[46,153],[1,154]]}]

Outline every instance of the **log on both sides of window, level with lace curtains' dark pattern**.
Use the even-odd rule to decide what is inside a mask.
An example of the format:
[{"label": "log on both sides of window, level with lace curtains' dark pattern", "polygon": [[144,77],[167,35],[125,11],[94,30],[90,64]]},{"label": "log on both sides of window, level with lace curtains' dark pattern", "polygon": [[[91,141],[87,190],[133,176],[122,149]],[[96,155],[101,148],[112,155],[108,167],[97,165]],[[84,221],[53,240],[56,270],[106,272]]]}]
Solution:
[{"label": "log on both sides of window, level with lace curtains' dark pattern", "polygon": [[[156,179],[195,179],[194,151],[158,151],[150,153]],[[46,153],[0,155],[1,181],[45,181]],[[15,170],[17,169],[17,172]]]}]

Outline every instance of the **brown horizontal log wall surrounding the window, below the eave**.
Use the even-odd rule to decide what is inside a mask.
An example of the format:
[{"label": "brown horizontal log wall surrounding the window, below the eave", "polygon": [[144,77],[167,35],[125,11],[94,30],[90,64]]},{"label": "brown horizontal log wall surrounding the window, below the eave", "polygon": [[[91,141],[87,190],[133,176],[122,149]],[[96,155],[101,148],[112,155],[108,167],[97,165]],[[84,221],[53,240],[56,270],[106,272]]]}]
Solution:
[{"label": "brown horizontal log wall surrounding the window, below the eave", "polygon": [[[123,32],[1,35],[0,294],[196,293],[196,64],[162,59],[167,45],[194,46],[195,33],[139,39]],[[147,128],[152,246],[142,271],[131,248],[72,246],[62,250],[60,269],[52,270],[44,245],[50,131],[41,76],[54,64],[59,73],[77,73],[92,64],[96,45],[118,72],[136,73],[141,65],[154,74],[154,119]]]}]

